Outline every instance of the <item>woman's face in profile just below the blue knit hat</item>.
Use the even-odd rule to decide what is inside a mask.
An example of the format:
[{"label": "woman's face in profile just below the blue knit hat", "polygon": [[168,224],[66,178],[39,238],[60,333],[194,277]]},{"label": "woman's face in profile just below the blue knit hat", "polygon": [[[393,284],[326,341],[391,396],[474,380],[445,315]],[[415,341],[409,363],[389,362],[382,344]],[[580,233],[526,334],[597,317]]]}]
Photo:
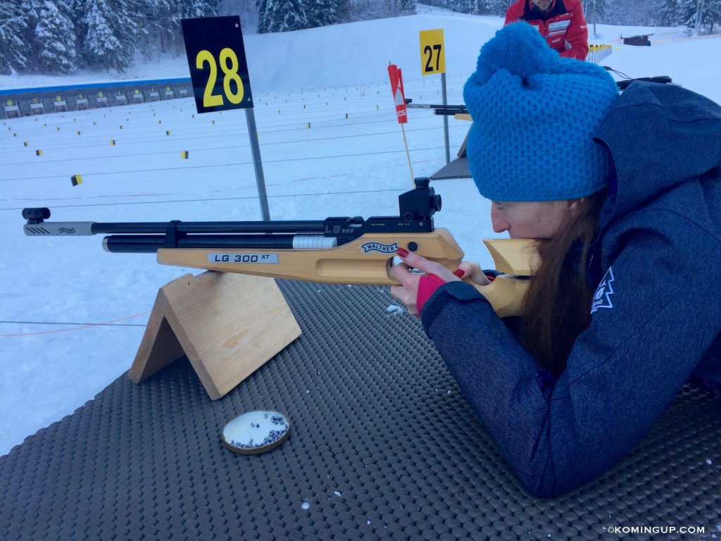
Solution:
[{"label": "woman's face in profile just below the blue knit hat", "polygon": [[492,201],[493,231],[512,239],[550,239],[578,212],[580,199]]}]

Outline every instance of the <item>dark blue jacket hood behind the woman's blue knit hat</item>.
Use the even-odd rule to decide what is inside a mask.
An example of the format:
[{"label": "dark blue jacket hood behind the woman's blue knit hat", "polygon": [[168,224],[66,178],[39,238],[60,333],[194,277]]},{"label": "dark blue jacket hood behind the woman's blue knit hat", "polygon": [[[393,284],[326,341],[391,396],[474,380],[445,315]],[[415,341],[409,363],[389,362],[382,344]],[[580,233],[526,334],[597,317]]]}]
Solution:
[{"label": "dark blue jacket hood behind the woman's blue knit hat", "polygon": [[[721,107],[672,84],[635,81],[619,96],[594,140],[611,151],[616,178],[608,221],[679,182],[721,165]],[[608,223],[608,222],[607,222]]]}]

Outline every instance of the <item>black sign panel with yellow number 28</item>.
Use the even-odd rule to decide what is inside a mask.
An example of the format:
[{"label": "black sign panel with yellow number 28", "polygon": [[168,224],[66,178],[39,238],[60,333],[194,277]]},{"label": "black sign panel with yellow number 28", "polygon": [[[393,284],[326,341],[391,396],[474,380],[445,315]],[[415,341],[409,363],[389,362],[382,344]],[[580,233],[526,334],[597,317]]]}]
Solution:
[{"label": "black sign panel with yellow number 28", "polygon": [[198,113],[253,106],[240,17],[182,19]]}]

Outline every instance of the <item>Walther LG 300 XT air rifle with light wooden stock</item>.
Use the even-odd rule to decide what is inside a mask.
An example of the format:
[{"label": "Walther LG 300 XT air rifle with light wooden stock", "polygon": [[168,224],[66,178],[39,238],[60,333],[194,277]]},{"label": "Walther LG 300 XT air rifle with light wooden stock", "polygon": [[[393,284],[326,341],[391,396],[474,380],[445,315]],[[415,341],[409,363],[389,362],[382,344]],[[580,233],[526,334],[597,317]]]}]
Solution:
[{"label": "Walther LG 300 XT air rifle with light wooden stock", "polygon": [[[454,271],[463,250],[447,229],[433,227],[441,196],[417,178],[398,196],[398,216],[318,221],[45,221],[48,208],[25,208],[25,234],[107,234],[107,252],[156,252],[158,263],[208,271],[271,276],[319,283],[394,285],[389,275],[398,247]],[[506,273],[477,289],[500,317],[521,314],[533,245],[526,240],[485,240],[497,271]],[[531,241],[532,243],[532,241]]]}]

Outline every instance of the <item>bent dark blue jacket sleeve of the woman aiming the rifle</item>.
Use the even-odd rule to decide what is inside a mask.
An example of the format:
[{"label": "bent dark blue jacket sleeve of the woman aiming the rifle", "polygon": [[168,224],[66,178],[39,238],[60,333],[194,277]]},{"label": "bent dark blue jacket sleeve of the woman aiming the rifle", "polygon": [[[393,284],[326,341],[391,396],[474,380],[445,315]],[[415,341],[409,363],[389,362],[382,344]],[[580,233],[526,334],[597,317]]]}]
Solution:
[{"label": "bent dark blue jacket sleeve of the woman aiming the rifle", "polygon": [[[707,248],[689,257],[684,244]],[[720,263],[717,239],[634,232],[549,390],[530,353],[468,284],[441,286],[423,325],[521,484],[557,496],[627,454],[681,390],[721,327]]]}]

